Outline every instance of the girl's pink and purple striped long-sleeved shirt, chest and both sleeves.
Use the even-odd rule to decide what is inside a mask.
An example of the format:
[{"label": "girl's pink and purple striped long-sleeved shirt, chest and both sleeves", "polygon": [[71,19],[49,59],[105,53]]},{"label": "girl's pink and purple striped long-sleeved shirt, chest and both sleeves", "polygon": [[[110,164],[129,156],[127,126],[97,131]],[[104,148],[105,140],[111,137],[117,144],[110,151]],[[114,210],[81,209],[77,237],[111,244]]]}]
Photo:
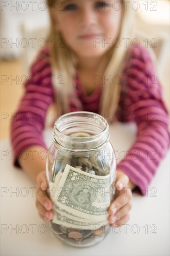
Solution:
[{"label": "girl's pink and purple striped long-sleeved shirt, chest and both sleeves", "polygon": [[[45,47],[31,65],[31,78],[25,83],[25,94],[11,125],[14,164],[26,148],[39,145],[47,149],[43,129],[47,109],[54,103],[49,48]],[[170,146],[169,115],[162,100],[162,90],[151,59],[142,46],[132,48],[122,73],[120,101],[116,118],[137,124],[137,138],[126,157],[117,165],[135,183],[142,195],[155,175]],[[103,85],[87,95],[76,75],[74,97],[69,99],[70,112],[98,113]],[[145,157],[147,154],[147,157]]]}]

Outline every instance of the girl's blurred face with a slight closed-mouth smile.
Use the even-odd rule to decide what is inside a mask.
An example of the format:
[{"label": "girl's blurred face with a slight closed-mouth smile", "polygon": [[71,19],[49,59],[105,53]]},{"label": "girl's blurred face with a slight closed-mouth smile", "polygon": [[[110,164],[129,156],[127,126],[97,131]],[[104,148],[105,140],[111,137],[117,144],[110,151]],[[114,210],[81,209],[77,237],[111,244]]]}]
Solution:
[{"label": "girl's blurred face with a slight closed-mouth smile", "polygon": [[56,31],[77,56],[99,57],[118,37],[122,5],[121,0],[62,0],[50,13]]}]

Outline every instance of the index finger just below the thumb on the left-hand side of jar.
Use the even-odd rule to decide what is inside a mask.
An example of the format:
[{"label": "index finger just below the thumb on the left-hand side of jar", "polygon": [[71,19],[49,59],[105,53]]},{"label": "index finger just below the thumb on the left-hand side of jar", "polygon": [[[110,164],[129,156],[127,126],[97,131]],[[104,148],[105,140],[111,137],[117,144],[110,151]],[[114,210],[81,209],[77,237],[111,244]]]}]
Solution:
[{"label": "index finger just below the thumb on the left-hand side of jar", "polygon": [[[41,188],[37,189],[37,201],[41,203],[45,209],[52,209],[52,202],[47,196],[47,191],[42,190]],[[36,207],[38,207],[38,202],[36,201]]]}]

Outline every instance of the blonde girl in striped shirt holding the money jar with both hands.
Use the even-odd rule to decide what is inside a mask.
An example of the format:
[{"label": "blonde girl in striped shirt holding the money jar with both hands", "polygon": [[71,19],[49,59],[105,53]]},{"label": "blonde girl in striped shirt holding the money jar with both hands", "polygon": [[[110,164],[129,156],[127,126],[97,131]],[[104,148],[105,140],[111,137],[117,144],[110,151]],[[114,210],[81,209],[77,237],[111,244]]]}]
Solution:
[{"label": "blonde girl in striped shirt holding the money jar with both hands", "polygon": [[[15,166],[37,183],[37,191],[47,189],[45,160],[38,153],[47,150],[42,114],[54,102],[57,116],[84,110],[99,113],[108,122],[135,121],[136,141],[117,165],[116,187],[121,193],[109,209],[109,222],[123,225],[129,219],[131,190],[145,195],[169,148],[169,116],[161,87],[146,49],[139,43],[130,44],[131,2],[47,0],[47,4],[51,19],[48,46],[31,66],[32,77],[25,83],[25,95],[11,126]],[[38,214],[49,222],[52,202],[39,194]]]}]

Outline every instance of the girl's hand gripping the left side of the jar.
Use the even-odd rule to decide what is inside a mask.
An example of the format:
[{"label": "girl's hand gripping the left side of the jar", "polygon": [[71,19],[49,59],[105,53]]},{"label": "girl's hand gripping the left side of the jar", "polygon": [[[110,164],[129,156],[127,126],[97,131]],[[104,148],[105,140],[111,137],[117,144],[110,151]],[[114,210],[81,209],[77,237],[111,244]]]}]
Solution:
[{"label": "girl's hand gripping the left side of the jar", "polygon": [[37,189],[36,189],[36,207],[38,215],[45,222],[52,220],[54,214],[52,212],[52,202],[47,196],[47,182],[45,179],[45,172],[42,171],[37,175]]}]

